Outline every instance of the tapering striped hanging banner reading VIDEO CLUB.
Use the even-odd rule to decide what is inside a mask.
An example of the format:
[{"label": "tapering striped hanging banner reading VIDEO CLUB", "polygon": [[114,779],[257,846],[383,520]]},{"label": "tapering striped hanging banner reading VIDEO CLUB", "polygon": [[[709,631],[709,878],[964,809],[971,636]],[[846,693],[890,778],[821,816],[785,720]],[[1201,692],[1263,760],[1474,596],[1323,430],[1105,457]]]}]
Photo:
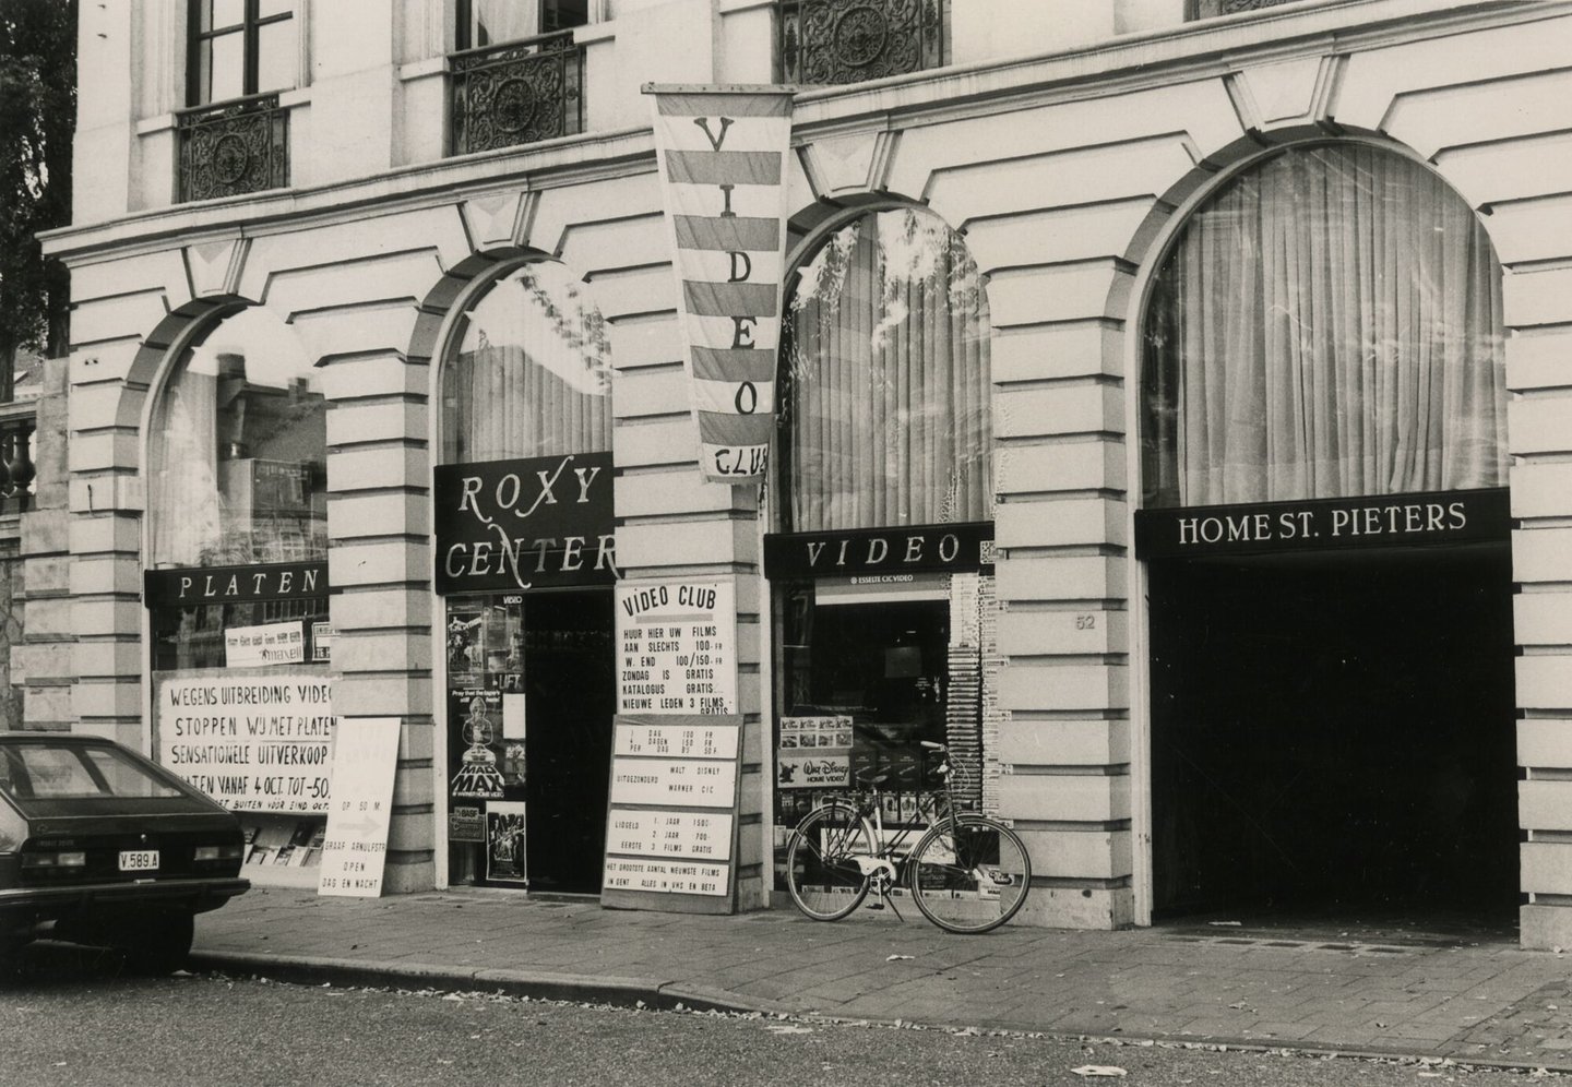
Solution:
[{"label": "tapering striped hanging banner reading VIDEO CLUB", "polygon": [[687,372],[706,479],[761,479],[775,429],[792,93],[645,86],[682,284]]}]

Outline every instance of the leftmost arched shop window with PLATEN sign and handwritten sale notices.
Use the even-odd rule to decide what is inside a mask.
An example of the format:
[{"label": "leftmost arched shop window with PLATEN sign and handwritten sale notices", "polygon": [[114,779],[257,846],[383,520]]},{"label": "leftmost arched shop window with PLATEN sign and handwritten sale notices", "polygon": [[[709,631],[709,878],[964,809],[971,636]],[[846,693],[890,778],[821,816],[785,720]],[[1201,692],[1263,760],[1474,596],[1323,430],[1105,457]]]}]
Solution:
[{"label": "leftmost arched shop window with PLATEN sign and handwritten sale notices", "polygon": [[252,306],[201,330],[156,397],[154,754],[242,814],[248,877],[316,886],[333,740],[321,371]]}]

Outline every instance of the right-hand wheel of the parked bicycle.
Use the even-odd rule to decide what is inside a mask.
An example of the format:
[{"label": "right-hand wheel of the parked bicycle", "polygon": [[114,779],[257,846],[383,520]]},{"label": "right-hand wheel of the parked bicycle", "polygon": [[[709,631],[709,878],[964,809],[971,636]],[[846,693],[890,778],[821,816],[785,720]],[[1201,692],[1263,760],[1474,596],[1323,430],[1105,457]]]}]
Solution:
[{"label": "right-hand wheel of the parked bicycle", "polygon": [[1031,858],[1016,831],[973,812],[934,823],[907,867],[916,908],[954,933],[998,928],[1031,889]]}]

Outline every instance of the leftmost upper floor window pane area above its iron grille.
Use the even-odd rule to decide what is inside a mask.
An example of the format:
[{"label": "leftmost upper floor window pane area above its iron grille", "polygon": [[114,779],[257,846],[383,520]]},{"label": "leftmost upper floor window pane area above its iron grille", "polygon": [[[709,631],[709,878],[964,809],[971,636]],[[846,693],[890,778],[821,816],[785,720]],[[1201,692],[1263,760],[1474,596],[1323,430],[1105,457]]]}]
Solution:
[{"label": "leftmost upper floor window pane area above its iron grille", "polygon": [[296,33],[294,0],[193,0],[187,104],[291,90]]}]

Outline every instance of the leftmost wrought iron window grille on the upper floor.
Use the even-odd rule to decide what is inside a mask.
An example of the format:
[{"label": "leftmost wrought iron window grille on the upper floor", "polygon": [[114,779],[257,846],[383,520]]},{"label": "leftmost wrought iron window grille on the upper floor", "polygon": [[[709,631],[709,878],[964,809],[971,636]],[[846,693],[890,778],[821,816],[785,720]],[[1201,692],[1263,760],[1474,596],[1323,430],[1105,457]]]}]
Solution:
[{"label": "leftmost wrought iron window grille on the upper floor", "polygon": [[179,115],[179,201],[289,185],[289,112],[258,94]]}]

